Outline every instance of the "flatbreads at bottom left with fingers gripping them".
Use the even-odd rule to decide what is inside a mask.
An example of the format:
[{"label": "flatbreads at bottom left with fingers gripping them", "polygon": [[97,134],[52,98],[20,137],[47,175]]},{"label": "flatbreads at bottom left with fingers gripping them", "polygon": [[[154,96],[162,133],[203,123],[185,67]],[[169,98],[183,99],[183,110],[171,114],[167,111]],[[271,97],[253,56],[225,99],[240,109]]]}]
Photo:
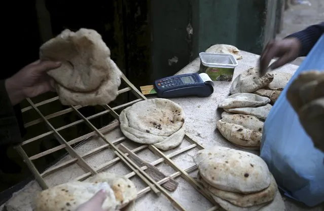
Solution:
[{"label": "flatbreads at bottom left with fingers gripping them", "polygon": [[116,211],[134,203],[137,196],[135,185],[130,180],[102,172],[83,182],[68,182],[42,191],[35,198],[35,210],[74,211],[101,189],[107,194],[102,209],[108,211]]}]

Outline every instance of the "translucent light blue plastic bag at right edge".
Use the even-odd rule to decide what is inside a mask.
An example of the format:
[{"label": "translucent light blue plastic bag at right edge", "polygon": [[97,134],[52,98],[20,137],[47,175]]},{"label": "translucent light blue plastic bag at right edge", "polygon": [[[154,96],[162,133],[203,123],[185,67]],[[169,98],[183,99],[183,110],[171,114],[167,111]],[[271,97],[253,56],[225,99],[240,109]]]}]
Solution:
[{"label": "translucent light blue plastic bag at right edge", "polygon": [[[324,71],[324,35],[286,87],[301,72],[311,69]],[[315,206],[324,202],[324,153],[314,147],[301,126],[286,91],[281,92],[264,124],[261,157],[285,195]]]}]

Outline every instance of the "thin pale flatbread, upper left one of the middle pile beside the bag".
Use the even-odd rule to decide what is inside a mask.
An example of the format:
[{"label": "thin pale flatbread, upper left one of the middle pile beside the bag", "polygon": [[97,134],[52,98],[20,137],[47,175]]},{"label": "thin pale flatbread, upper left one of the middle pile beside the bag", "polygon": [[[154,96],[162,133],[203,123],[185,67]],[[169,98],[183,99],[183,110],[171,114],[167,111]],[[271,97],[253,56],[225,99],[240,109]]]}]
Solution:
[{"label": "thin pale flatbread, upper left one of the middle pile beside the bag", "polygon": [[237,93],[226,97],[218,107],[223,109],[259,107],[269,102],[270,99],[268,97],[251,93]]}]

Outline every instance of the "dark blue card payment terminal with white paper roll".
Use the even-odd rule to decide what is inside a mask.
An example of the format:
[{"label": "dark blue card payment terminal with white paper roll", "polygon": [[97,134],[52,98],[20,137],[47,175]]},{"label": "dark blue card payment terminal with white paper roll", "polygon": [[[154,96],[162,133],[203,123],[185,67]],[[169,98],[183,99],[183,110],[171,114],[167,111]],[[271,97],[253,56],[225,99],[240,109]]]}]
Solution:
[{"label": "dark blue card payment terminal with white paper roll", "polygon": [[213,82],[205,73],[183,74],[156,80],[154,88],[158,97],[210,96]]}]

